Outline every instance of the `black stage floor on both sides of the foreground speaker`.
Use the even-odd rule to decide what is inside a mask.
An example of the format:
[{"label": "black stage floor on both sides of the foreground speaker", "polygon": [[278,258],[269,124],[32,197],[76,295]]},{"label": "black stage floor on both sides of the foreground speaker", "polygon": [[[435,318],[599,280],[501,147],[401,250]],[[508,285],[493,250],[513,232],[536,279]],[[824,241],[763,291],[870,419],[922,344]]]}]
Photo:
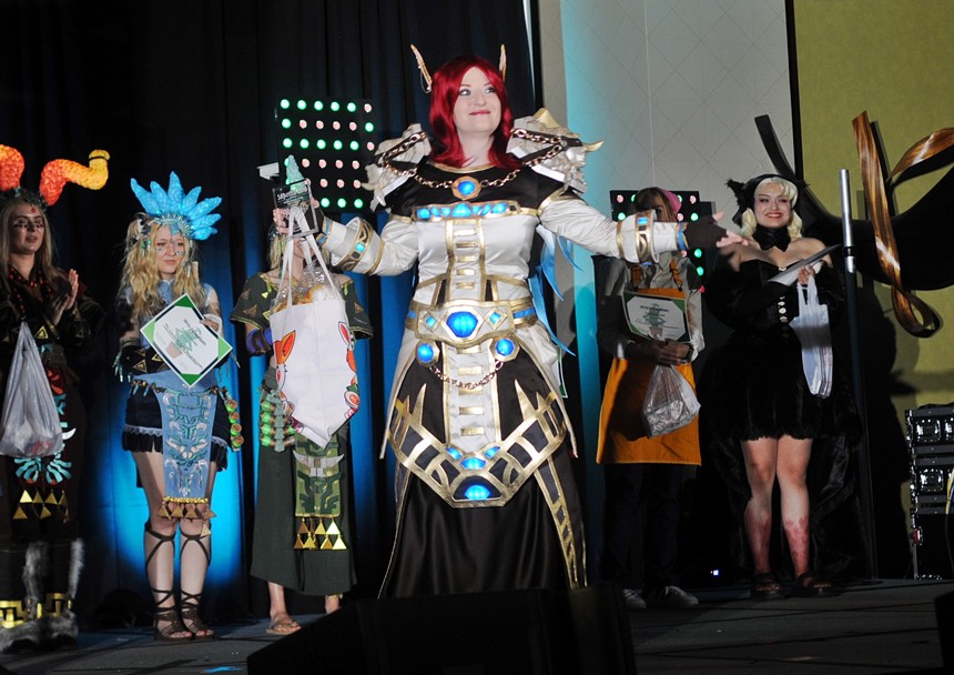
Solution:
[{"label": "black stage floor on both sides of the foreground speaker", "polygon": [[[873,581],[836,597],[754,602],[743,587],[702,590],[694,609],[629,613],[640,675],[656,673],[943,673],[935,598],[954,582]],[[297,617],[303,624],[323,616]],[[18,675],[246,673],[250,654],[275,642],[266,622],[216,626],[219,638],[153,642],[146,629],[83,633],[68,653],[0,655]],[[948,635],[950,637],[950,635]],[[325,645],[341,648],[342,645]],[[952,668],[954,669],[954,668]],[[315,664],[315,673],[321,673]],[[468,671],[470,673],[470,671]]]}]

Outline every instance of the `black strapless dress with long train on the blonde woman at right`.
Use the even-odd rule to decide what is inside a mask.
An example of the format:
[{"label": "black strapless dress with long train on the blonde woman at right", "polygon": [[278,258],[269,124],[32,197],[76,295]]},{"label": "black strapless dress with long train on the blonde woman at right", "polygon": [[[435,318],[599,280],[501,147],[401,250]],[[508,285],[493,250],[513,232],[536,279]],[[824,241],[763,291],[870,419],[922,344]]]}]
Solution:
[{"label": "black strapless dress with long train on the blonde woman at right", "polygon": [[[718,512],[712,502],[719,496],[729,511],[721,527],[710,523],[706,530],[722,532],[718,540],[731,542],[731,564],[748,568],[741,525],[751,491],[741,442],[783,435],[812,439],[808,485],[814,563],[830,575],[852,574],[860,571],[864,550],[852,461],[861,442],[860,417],[838,353],[831,395],[821,399],[809,391],[801,343],[790,325],[799,313],[798,284],[769,282],[779,271],[760,260],[747,261],[734,271],[720,260],[706,284],[707,310],[733,330],[709,356],[699,385],[700,496],[710,500],[709,517]],[[824,265],[815,283],[834,323],[844,299],[841,280]]]}]

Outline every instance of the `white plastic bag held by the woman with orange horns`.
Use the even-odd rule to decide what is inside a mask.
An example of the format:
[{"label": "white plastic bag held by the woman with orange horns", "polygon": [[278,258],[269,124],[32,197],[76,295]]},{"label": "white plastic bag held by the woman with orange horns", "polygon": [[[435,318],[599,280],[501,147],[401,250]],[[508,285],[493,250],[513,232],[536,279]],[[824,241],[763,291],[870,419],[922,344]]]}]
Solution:
[{"label": "white plastic bag held by the woman with orange horns", "polygon": [[17,351],[7,374],[0,417],[0,454],[45,457],[63,450],[63,429],[47,371],[27,322],[20,324]]}]

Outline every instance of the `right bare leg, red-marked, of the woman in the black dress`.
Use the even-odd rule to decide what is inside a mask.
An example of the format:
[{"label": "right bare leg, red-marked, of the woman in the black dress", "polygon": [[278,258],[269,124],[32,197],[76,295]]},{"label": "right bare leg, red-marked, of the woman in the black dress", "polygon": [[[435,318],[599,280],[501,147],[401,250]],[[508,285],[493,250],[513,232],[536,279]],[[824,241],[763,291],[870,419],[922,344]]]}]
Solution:
[{"label": "right bare leg, red-marked, of the woman in the black dress", "polygon": [[811,570],[809,488],[805,484],[811,455],[811,439],[779,439],[778,473],[782,496],[782,524],[796,578]]}]

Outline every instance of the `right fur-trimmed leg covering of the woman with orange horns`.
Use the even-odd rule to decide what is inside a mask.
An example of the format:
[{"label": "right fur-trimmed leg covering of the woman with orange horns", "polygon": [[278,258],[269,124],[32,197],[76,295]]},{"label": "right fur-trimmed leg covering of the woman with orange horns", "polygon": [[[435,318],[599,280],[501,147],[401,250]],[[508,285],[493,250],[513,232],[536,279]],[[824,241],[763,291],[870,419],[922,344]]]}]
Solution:
[{"label": "right fur-trimmed leg covering of the woman with orange horns", "polygon": [[50,568],[43,602],[43,638],[58,645],[75,644],[79,635],[73,598],[83,570],[82,540],[54,542],[50,546]]}]

